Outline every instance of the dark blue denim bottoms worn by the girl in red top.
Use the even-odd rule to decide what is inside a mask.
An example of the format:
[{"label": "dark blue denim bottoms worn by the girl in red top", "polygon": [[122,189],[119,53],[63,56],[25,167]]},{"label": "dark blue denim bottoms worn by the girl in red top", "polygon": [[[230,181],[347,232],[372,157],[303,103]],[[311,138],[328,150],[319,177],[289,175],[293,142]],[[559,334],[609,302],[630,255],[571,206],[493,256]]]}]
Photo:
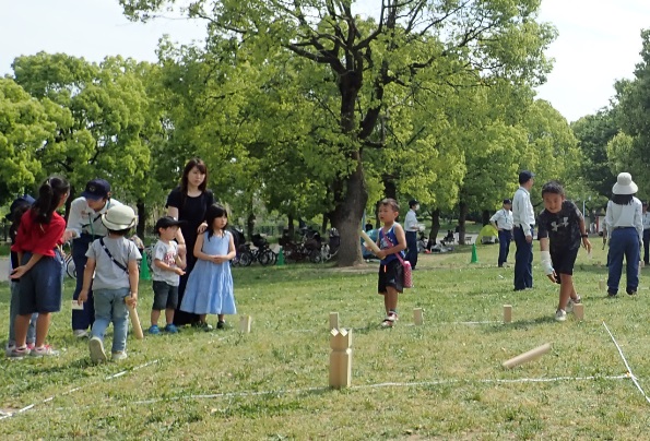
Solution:
[{"label": "dark blue denim bottoms worn by the girl in red top", "polygon": [[[23,255],[22,264],[32,258],[31,252]],[[61,310],[61,296],[63,294],[63,275],[61,267],[63,259],[59,251],[55,257],[43,257],[32,270],[21,277],[19,315],[28,315],[34,312],[47,313]]]}]

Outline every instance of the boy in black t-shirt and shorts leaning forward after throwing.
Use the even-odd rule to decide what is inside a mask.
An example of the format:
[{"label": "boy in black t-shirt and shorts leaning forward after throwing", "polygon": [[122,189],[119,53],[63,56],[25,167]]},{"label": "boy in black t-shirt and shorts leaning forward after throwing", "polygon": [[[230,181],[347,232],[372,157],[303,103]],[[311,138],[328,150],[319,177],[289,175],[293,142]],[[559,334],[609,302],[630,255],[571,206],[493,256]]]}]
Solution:
[{"label": "boy in black t-shirt and shorts leaning forward after throwing", "polygon": [[[591,252],[591,242],[584,229],[584,217],[571,201],[565,199],[564,188],[555,181],[542,187],[544,211],[540,213],[537,238],[542,253],[542,267],[546,276],[559,283],[559,301],[555,320],[567,320],[567,308],[581,301],[574,287],[574,264],[580,245]],[[551,242],[551,247],[548,245]]]}]

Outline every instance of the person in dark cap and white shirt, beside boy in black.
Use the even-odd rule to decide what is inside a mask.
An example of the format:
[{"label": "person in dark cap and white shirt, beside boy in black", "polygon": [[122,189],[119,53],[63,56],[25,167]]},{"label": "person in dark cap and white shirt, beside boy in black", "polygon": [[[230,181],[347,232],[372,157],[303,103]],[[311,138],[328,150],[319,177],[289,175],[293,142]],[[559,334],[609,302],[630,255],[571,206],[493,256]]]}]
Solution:
[{"label": "person in dark cap and white shirt, beside boy in black", "polygon": [[519,188],[512,198],[515,238],[515,290],[533,287],[533,234],[535,213],[530,199],[535,175],[529,170],[519,174]]}]

